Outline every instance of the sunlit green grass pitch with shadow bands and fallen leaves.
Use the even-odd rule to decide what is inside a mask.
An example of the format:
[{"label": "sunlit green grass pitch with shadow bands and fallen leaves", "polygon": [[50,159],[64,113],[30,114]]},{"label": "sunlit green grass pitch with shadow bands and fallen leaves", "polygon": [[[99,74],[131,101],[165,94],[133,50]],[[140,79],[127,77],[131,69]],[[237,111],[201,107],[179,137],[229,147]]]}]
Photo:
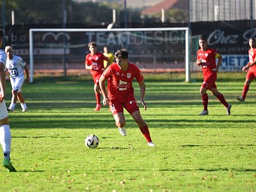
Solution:
[{"label": "sunlit green grass pitch with shadow bands and fallen leaves", "polygon": [[[209,115],[199,116],[200,77],[145,74],[148,110],[140,109],[155,148],[127,112],[122,137],[108,108],[93,110],[90,76],[35,77],[22,88],[28,113],[19,104],[10,113],[18,172],[0,168],[0,191],[256,191],[256,83],[237,102],[245,74],[220,74],[232,113],[209,92]],[[10,98],[8,82],[6,104]],[[99,147],[85,147],[88,134]]]}]

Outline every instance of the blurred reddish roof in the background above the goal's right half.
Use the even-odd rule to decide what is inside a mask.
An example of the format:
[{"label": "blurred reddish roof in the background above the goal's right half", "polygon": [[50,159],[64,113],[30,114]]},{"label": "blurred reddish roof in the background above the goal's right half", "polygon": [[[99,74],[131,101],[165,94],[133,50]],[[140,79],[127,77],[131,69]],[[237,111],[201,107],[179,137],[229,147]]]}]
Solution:
[{"label": "blurred reddish roof in the background above the goal's right half", "polygon": [[188,10],[188,0],[165,0],[161,3],[155,4],[154,6],[146,8],[141,13],[144,15],[152,15],[154,13],[161,12],[162,8],[164,8],[164,10],[169,10],[171,8]]}]

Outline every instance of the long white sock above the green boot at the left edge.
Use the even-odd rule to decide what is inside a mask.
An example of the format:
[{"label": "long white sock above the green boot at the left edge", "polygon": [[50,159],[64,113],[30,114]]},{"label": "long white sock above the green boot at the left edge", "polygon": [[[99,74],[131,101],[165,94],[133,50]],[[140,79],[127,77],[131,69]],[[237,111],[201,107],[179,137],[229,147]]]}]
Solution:
[{"label": "long white sock above the green boot at the left edge", "polygon": [[1,125],[0,127],[0,143],[4,154],[10,154],[12,135],[10,125]]}]

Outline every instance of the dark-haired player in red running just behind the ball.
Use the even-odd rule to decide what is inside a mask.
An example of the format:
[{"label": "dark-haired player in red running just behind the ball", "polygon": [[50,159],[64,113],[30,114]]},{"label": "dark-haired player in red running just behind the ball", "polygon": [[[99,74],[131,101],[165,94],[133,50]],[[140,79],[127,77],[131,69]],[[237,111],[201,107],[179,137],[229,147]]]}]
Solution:
[{"label": "dark-haired player in red running just behind the ball", "polygon": [[[145,111],[147,110],[144,101],[146,86],[143,81],[143,75],[138,67],[128,63],[128,52],[124,49],[115,53],[116,63],[110,65],[100,77],[100,89],[103,95],[103,104],[109,103],[112,114],[115,118],[116,126],[122,136],[126,136],[124,108],[131,114],[132,118],[138,124],[140,131],[145,136],[148,146],[154,147],[155,144],[150,138],[148,125],[144,122],[140,114],[140,109],[134,97],[134,88],[132,79],[136,78],[140,85],[141,104]],[[106,92],[105,82],[108,81],[108,93]]]}]

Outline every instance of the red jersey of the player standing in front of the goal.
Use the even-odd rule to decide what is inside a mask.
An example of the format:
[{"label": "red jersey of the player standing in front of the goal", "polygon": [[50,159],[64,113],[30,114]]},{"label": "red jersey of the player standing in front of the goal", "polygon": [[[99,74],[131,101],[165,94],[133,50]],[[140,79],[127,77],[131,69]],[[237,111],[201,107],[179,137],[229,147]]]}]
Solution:
[{"label": "red jersey of the player standing in front of the goal", "polygon": [[104,56],[104,54],[102,54],[101,52],[96,52],[95,55],[89,53],[88,55],[86,55],[85,64],[93,66],[91,70],[91,74],[93,75],[95,74],[95,72],[103,72],[104,60],[108,60],[108,58]]}]

